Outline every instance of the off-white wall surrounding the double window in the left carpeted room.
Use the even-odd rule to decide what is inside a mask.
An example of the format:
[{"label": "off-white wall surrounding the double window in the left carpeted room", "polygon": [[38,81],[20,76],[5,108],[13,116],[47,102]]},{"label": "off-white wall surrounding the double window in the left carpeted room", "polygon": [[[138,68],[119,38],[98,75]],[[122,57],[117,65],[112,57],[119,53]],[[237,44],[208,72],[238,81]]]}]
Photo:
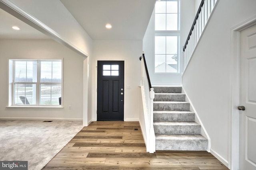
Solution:
[{"label": "off-white wall surrounding the double window in the left carpeted room", "polygon": [[[7,108],[8,59],[64,59],[64,108]],[[83,117],[83,57],[54,40],[0,39],[0,119],[67,119]],[[71,106],[72,109],[68,109]]]}]

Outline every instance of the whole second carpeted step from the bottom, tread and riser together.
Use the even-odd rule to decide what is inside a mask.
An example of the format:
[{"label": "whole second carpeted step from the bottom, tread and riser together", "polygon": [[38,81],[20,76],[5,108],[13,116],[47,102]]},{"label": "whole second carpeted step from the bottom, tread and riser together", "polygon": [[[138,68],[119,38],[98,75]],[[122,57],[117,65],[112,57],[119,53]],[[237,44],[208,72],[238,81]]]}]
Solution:
[{"label": "whole second carpeted step from the bottom, tread and riser together", "polygon": [[156,121],[155,134],[200,134],[201,125],[196,122]]}]

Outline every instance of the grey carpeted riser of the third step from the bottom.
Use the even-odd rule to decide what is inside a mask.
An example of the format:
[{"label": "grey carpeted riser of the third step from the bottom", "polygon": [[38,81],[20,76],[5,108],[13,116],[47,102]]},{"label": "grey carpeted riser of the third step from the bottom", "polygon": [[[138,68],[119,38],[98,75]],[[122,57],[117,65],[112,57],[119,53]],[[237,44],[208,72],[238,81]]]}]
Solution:
[{"label": "grey carpeted riser of the third step from the bottom", "polygon": [[154,113],[153,121],[195,121],[195,113]]}]

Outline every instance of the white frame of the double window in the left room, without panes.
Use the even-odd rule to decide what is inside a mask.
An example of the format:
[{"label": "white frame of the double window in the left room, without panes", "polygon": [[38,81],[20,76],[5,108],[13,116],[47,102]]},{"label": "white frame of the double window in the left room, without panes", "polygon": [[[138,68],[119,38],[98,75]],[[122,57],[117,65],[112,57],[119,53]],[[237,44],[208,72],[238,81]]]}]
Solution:
[{"label": "white frame of the double window in the left room, without panes", "polygon": [[[37,61],[37,81],[36,82],[15,82],[15,61]],[[41,61],[61,61],[61,82],[40,82],[40,66]],[[63,58],[54,59],[8,59],[8,107],[49,107],[49,108],[63,108]],[[14,84],[36,84],[36,104],[14,104],[15,89]],[[61,105],[41,105],[40,104],[40,85],[41,84],[60,84],[61,85]],[[51,92],[52,95],[52,92]]]}]

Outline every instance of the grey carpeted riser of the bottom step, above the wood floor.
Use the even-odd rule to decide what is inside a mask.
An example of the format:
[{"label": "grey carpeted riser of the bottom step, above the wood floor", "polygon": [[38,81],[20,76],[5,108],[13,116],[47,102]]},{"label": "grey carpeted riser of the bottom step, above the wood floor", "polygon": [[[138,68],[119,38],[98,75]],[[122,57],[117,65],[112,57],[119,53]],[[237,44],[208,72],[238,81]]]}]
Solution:
[{"label": "grey carpeted riser of the bottom step, above the wood floor", "polygon": [[156,140],[156,150],[207,150],[207,140]]}]

